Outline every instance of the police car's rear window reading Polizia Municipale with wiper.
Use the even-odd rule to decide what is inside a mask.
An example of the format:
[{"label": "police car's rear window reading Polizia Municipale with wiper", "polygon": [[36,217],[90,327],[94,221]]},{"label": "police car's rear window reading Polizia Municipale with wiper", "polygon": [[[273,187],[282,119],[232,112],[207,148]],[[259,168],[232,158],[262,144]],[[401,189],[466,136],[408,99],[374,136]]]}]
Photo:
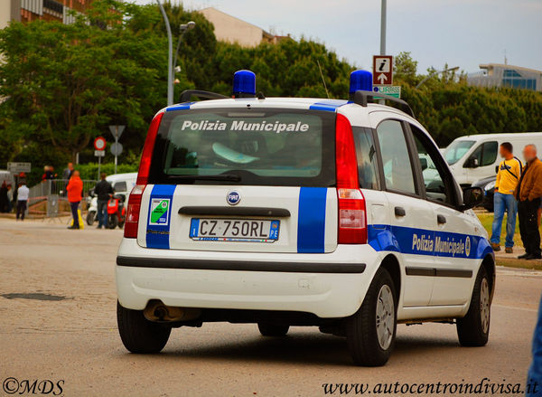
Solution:
[{"label": "police car's rear window reading Polizia Municipale with wiper", "polygon": [[335,114],[201,109],[164,114],[153,184],[335,184]]}]

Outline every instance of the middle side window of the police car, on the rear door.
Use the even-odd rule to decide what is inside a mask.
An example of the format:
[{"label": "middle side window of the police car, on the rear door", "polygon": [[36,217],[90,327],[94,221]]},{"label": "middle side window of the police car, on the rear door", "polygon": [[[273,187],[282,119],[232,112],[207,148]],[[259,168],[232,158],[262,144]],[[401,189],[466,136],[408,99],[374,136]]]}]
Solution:
[{"label": "middle side window of the police car, on the rear door", "polygon": [[401,122],[382,121],[377,128],[377,136],[386,188],[401,193],[416,194],[414,173]]}]

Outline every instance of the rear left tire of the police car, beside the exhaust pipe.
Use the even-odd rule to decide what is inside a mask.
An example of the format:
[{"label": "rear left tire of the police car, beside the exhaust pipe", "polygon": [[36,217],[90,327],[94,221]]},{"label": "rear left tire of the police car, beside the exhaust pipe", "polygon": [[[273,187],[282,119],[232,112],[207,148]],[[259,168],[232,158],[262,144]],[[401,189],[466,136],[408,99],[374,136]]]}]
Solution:
[{"label": "rear left tire of the police car, beside the exhaust pipe", "polygon": [[149,321],[143,310],[122,307],[118,301],[117,326],[123,345],[138,354],[159,353],[172,332],[171,326]]}]

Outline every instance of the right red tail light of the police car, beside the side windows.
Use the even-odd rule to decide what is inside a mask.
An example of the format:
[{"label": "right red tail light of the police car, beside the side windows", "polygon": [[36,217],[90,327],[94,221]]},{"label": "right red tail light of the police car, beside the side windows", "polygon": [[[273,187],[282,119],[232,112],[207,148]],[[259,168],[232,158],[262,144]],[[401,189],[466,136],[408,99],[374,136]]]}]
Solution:
[{"label": "right red tail light of the police car, beside the side windows", "polygon": [[367,243],[365,199],[358,180],[358,160],[348,118],[337,115],[335,126],[339,244]]}]

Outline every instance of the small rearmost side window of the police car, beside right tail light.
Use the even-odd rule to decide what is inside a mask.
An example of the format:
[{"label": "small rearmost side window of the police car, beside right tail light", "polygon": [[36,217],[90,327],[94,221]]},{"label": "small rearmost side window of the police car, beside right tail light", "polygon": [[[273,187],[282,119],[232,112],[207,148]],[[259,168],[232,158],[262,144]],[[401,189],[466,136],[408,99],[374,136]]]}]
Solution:
[{"label": "small rearmost side window of the police car, beside right tail light", "polygon": [[358,175],[362,189],[378,190],[377,149],[370,128],[353,127],[356,155],[358,157]]}]

